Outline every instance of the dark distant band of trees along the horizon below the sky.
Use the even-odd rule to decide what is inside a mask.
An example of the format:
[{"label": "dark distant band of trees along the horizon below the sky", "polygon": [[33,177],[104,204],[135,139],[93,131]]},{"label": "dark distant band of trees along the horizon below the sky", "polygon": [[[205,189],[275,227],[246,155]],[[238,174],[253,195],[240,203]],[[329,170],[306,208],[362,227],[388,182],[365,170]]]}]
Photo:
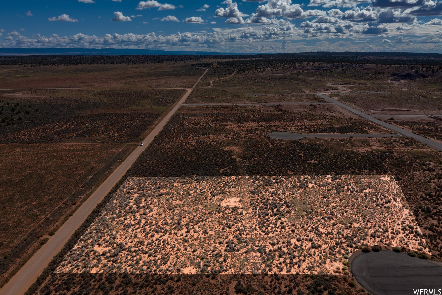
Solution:
[{"label": "dark distant band of trees along the horizon below the sky", "polygon": [[[289,62],[358,63],[382,65],[442,65],[442,54],[386,52],[306,52],[253,55],[27,55],[2,56],[0,65],[113,65],[201,60],[291,59]],[[236,62],[236,61],[235,61]],[[210,62],[199,63],[210,66]]]}]

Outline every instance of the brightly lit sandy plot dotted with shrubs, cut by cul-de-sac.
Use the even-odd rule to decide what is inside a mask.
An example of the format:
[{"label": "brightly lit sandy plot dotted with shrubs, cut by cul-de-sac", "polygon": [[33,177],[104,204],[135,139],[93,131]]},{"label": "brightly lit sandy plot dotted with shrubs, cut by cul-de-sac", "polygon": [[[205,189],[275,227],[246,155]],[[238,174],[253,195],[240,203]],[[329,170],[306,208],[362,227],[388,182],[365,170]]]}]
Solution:
[{"label": "brightly lit sandy plot dotted with shrubs, cut by cul-de-sac", "polygon": [[423,251],[420,236],[388,175],[136,177],[56,272],[333,274],[364,245]]}]

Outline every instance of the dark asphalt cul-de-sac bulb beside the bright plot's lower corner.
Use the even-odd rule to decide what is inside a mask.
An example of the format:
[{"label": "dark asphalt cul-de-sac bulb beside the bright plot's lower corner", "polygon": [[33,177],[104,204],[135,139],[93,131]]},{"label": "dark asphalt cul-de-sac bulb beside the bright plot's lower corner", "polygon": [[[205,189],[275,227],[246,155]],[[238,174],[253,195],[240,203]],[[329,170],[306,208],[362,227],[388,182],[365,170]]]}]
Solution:
[{"label": "dark asphalt cul-de-sac bulb beside the bright plot's lower corner", "polygon": [[406,253],[362,253],[351,262],[351,273],[373,295],[412,295],[413,289],[442,291],[442,266]]}]

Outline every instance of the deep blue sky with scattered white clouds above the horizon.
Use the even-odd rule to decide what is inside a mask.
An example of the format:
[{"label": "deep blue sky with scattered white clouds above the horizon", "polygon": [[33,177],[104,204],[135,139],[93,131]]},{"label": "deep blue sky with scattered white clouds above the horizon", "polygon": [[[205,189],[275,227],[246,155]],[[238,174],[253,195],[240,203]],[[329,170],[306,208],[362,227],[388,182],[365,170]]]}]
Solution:
[{"label": "deep blue sky with scattered white clouds above the horizon", "polygon": [[442,53],[438,0],[22,0],[0,15],[0,47]]}]

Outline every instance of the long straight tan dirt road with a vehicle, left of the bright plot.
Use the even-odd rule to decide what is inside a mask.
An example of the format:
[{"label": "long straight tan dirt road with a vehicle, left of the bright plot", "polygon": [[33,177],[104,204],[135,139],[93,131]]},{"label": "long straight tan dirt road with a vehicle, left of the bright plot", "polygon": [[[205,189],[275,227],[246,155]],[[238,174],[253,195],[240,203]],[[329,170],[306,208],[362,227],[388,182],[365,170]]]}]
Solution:
[{"label": "long straight tan dirt road with a vehicle, left of the bright plot", "polygon": [[1,295],[18,295],[23,294],[27,289],[34,284],[39,274],[46,268],[52,258],[60,252],[63,246],[67,243],[75,230],[80,227],[84,220],[91,214],[92,210],[100,203],[115,184],[125,175],[126,171],[132,166],[137,157],[146,149],[153,138],[166,125],[173,114],[183,104],[192,90],[198,84],[199,80],[206,74],[207,70],[202,74],[198,81],[192,88],[184,88],[187,92],[179,100],[177,104],[168,112],[168,114],[156,125],[155,129],[143,141],[144,146],[138,146],[130,155],[123,161],[117,169],[110,174],[110,176],[101,184],[92,195],[84,201],[80,208],[60,227],[57,232],[49,238],[49,241],[42,246],[28,261],[20,268],[20,270],[9,280],[8,284],[0,289]]}]

